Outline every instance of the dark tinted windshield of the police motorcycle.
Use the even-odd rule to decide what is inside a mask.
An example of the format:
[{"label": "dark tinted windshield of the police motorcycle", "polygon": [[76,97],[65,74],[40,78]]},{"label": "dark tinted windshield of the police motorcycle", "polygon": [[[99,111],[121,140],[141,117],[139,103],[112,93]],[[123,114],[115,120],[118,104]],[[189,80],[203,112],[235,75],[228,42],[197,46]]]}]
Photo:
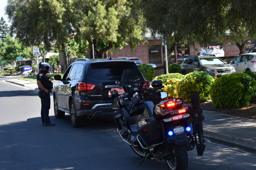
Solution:
[{"label": "dark tinted windshield of the police motorcycle", "polygon": [[131,88],[137,88],[138,84],[144,82],[145,79],[139,68],[124,70],[119,88],[123,88],[123,86],[128,86]]}]

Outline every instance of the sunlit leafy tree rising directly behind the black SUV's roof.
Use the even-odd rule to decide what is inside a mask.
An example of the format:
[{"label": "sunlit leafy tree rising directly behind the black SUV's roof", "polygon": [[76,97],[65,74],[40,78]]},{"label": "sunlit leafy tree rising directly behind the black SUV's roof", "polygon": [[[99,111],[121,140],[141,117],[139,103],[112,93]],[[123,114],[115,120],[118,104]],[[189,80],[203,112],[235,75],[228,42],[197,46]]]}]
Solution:
[{"label": "sunlit leafy tree rising directly behind the black SUV's roof", "polygon": [[92,50],[95,58],[102,58],[106,51],[122,48],[127,39],[132,50],[142,41],[144,19],[137,1],[73,0],[70,8],[72,26],[88,41],[91,58]]}]

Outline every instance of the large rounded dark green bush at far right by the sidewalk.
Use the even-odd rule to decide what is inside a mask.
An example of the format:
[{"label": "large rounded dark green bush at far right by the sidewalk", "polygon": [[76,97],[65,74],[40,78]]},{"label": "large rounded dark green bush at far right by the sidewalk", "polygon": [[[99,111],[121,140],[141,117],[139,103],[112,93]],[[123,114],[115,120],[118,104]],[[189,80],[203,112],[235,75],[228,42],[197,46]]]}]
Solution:
[{"label": "large rounded dark green bush at far right by the sidewalk", "polygon": [[210,89],[216,108],[248,106],[256,96],[256,81],[246,73],[232,73],[217,78]]}]

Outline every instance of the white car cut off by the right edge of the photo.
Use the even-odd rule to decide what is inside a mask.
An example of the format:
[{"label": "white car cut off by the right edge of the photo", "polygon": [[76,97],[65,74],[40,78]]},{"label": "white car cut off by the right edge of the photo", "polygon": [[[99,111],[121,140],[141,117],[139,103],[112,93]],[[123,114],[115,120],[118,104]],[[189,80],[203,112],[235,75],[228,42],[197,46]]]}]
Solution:
[{"label": "white car cut off by the right edge of the photo", "polygon": [[240,71],[252,71],[256,73],[256,53],[246,53],[237,56],[234,60],[230,61],[231,66],[233,66],[237,72]]}]

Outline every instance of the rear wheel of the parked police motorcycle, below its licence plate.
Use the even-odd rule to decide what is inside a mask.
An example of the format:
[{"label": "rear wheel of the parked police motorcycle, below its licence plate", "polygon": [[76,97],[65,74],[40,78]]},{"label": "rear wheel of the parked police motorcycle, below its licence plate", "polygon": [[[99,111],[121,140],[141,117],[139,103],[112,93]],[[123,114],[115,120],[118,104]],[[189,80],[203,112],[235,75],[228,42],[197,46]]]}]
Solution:
[{"label": "rear wheel of the parked police motorcycle, below its licence plate", "polygon": [[167,166],[172,170],[187,169],[188,167],[188,153],[183,145],[178,145],[173,149],[174,158],[165,160]]}]

